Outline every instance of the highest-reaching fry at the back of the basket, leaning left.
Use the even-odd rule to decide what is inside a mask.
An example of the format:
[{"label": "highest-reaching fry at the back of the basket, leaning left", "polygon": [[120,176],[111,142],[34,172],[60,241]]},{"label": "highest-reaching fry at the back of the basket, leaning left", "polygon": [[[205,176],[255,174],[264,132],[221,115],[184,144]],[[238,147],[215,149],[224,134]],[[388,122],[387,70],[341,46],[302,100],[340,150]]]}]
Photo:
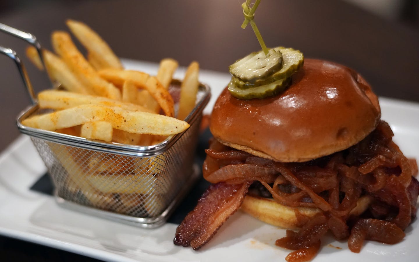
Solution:
[{"label": "highest-reaching fry at the back of the basket, leaning left", "polygon": [[93,54],[93,57],[99,62],[101,68],[124,68],[109,45],[89,26],[74,20],[67,20],[66,24],[80,43],[89,53]]}]

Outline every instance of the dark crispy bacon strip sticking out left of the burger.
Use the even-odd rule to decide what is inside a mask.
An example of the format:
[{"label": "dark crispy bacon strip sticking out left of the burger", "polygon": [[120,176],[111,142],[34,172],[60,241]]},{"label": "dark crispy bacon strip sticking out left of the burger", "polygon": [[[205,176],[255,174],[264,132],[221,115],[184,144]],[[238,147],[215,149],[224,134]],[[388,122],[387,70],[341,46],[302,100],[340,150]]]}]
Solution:
[{"label": "dark crispy bacon strip sticking out left of the burger", "polygon": [[195,209],[176,229],[173,243],[198,250],[217,233],[220,226],[237,211],[251,182],[228,185],[220,182],[209,186]]}]

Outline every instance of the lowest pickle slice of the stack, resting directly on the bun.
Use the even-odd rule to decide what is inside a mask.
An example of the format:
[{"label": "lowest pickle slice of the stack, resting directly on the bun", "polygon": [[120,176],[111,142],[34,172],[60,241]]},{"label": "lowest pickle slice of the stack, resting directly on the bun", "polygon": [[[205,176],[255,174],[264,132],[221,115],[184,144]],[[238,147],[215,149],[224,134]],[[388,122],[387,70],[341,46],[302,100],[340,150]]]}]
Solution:
[{"label": "lowest pickle slice of the stack, resting directly on the bun", "polygon": [[238,99],[252,99],[252,98],[266,98],[269,96],[274,96],[284,91],[291,83],[291,78],[284,78],[277,80],[275,82],[269,83],[267,85],[261,85],[258,87],[251,88],[238,88],[233,81],[228,83],[228,91],[231,95]]}]

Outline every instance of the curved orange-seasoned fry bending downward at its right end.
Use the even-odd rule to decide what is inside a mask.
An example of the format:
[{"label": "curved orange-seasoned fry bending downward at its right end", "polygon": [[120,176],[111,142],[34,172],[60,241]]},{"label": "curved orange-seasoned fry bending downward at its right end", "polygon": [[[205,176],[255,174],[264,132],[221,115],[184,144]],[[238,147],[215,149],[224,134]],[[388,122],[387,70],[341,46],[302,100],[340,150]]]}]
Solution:
[{"label": "curved orange-seasoned fry bending downward at its right end", "polygon": [[125,81],[131,80],[137,87],[147,90],[153,96],[166,116],[174,116],[173,98],[157,78],[133,70],[103,69],[98,73],[116,85],[122,85]]}]

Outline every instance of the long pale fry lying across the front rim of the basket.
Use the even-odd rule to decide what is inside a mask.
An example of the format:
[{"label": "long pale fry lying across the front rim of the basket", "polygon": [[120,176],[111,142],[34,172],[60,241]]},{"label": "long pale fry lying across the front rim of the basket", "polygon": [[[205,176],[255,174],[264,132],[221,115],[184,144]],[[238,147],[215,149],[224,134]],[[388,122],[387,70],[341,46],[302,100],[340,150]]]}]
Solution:
[{"label": "long pale fry lying across the front rim of the basket", "polygon": [[112,123],[113,128],[135,134],[169,136],[189,128],[188,123],[173,117],[101,105],[79,105],[53,113],[32,116],[23,120],[22,124],[54,131],[93,121],[107,121]]}]

